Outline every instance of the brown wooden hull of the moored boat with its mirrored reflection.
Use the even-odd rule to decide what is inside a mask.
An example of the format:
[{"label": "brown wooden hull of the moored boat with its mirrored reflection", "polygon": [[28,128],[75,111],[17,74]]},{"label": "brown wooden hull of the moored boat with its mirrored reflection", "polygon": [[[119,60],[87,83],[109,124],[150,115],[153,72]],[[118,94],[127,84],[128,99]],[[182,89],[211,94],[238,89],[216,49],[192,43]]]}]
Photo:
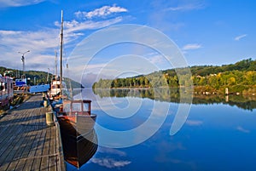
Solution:
[{"label": "brown wooden hull of the moored boat with its mirrored reflection", "polygon": [[94,130],[96,115],[57,117],[61,128],[61,140],[65,160],[80,168],[97,150]]}]

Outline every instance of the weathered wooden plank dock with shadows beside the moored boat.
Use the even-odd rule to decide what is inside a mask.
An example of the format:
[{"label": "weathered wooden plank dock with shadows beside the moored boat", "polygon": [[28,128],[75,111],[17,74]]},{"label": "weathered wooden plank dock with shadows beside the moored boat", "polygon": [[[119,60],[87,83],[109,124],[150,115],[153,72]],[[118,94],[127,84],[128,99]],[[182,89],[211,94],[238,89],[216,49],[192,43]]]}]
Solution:
[{"label": "weathered wooden plank dock with shadows beside the moored boat", "polygon": [[66,170],[58,124],[47,126],[33,95],[20,107],[0,116],[0,170]]}]

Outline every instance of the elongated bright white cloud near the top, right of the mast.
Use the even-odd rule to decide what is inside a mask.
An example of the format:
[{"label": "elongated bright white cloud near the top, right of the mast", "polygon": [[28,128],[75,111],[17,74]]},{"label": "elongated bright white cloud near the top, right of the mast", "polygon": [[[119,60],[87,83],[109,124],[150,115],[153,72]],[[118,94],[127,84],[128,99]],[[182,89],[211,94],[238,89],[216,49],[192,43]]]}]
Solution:
[{"label": "elongated bright white cloud near the top, right of the mast", "polygon": [[113,4],[113,6],[103,6],[100,9],[94,9],[93,11],[90,11],[90,12],[78,11],[75,13],[75,15],[78,18],[92,19],[95,17],[106,17],[110,14],[122,13],[127,11],[128,11],[127,9],[118,7],[116,6],[116,4]]}]

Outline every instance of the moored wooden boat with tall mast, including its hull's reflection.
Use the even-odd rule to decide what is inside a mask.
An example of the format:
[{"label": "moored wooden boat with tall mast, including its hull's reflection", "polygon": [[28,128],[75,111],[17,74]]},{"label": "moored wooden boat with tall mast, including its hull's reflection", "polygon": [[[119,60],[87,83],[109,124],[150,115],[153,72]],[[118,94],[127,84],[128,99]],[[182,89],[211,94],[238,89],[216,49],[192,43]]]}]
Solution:
[{"label": "moored wooden boat with tall mast, including its hull's reflection", "polygon": [[[61,103],[54,109],[61,128],[61,141],[65,160],[80,168],[90,160],[97,150],[97,136],[94,130],[96,114],[91,113],[91,100],[68,99],[63,94],[62,48],[63,48],[63,12],[61,11],[61,75],[58,84]],[[59,100],[60,101],[60,100]]]}]

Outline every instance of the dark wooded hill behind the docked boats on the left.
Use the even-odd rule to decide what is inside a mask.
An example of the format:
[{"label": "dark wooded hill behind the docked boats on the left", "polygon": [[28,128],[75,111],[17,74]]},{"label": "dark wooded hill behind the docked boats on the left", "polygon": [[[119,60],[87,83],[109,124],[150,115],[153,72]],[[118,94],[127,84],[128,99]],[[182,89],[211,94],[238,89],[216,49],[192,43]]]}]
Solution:
[{"label": "dark wooded hill behind the docked boats on the left", "polygon": [[[19,75],[20,76],[23,75],[22,71],[0,66],[0,74],[4,75],[4,73],[6,76],[14,77],[14,79],[16,77],[19,77]],[[27,84],[29,85],[49,83],[52,77],[55,77],[51,73],[49,73],[49,76],[48,76],[48,72],[45,72],[45,71],[26,71],[25,74],[26,74],[26,78],[28,79]],[[47,82],[47,77],[49,78],[48,82]],[[67,88],[69,87],[70,84],[72,88],[81,88],[81,87],[83,88],[83,86],[80,83],[77,83],[70,78],[64,77],[64,81],[67,82]]]}]

